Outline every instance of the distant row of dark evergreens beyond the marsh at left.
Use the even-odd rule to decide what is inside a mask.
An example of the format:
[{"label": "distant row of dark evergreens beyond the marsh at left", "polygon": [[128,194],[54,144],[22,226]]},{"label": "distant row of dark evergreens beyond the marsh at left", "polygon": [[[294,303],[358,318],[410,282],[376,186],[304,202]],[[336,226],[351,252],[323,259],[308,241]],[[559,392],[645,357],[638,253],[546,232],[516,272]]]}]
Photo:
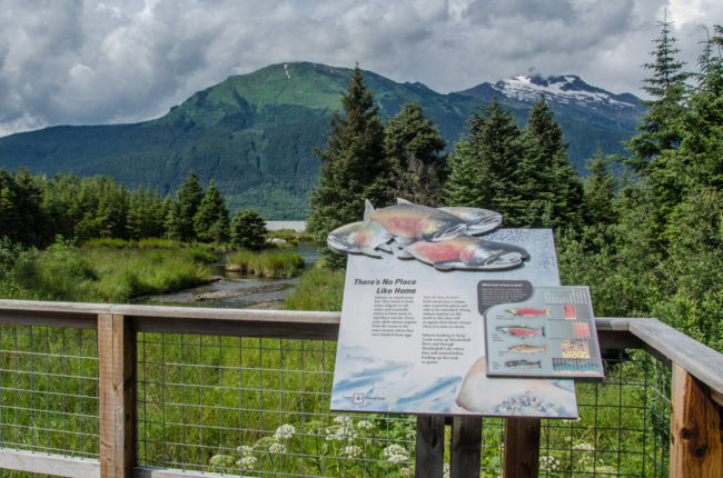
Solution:
[{"label": "distant row of dark evergreens beyond the marsh at left", "polygon": [[0,169],[0,231],[6,241],[22,247],[46,247],[61,236],[80,242],[165,237],[259,248],[266,223],[252,210],[230,218],[216,183],[204,189],[195,171],[175,197],[162,197],[157,189],[129,190],[109,177],[48,179],[26,169]]}]

